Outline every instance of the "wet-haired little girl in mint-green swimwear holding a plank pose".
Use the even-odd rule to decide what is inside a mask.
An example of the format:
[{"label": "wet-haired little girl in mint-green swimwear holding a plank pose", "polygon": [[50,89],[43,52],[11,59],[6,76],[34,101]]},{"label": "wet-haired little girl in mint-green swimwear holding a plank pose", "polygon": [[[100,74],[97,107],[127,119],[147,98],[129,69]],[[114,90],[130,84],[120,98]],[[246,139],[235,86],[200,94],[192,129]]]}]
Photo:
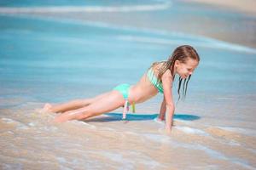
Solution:
[{"label": "wet-haired little girl in mint-green swimwear holding a plank pose", "polygon": [[189,45],[177,47],[167,61],[155,62],[135,85],[120,84],[112,91],[100,94],[91,99],[76,99],[61,105],[44,105],[44,111],[61,112],[55,122],[84,120],[91,116],[102,115],[124,106],[123,118],[130,104],[138,104],[164,94],[160,106],[160,121],[166,120],[166,131],[171,132],[174,101],[172,82],[179,76],[177,93],[180,99],[180,88],[183,83],[183,99],[186,95],[189,79],[199,64],[200,57],[195,48]]}]

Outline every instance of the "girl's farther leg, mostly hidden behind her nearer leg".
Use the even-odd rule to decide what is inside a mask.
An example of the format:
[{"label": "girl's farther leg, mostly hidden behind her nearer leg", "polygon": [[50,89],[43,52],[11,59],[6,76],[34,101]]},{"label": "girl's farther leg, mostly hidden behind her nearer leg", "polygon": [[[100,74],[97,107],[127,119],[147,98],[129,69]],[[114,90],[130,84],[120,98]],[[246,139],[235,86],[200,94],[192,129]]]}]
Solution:
[{"label": "girl's farther leg, mostly hidden behind her nearer leg", "polygon": [[60,105],[46,104],[46,105],[44,105],[44,110],[50,111],[50,112],[55,112],[55,113],[76,110],[76,109],[79,109],[86,105],[90,105],[93,101],[101,99],[101,98],[107,96],[108,94],[109,94],[109,92],[105,93],[105,94],[97,95],[95,98],[90,98],[90,99],[75,99],[73,101],[69,101],[67,103],[60,104]]}]

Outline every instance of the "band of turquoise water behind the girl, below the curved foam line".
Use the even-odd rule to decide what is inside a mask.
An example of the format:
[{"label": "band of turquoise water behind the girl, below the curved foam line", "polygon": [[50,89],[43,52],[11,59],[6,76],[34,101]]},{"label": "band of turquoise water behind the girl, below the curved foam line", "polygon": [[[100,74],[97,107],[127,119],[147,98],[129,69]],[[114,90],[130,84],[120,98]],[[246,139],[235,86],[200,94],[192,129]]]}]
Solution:
[{"label": "band of turquoise water behind the girl, below the curved foam line", "polygon": [[52,99],[40,93],[60,85],[68,86],[68,91],[79,88],[85,95],[96,86],[106,91],[121,82],[135,83],[152,62],[167,59],[181,44],[192,44],[201,54],[191,93],[252,94],[256,90],[256,59],[250,48],[224,44],[230,47],[226,49],[223,42],[207,38],[70,20],[1,16],[0,22],[1,86],[32,88],[35,91],[29,95],[37,99]]}]

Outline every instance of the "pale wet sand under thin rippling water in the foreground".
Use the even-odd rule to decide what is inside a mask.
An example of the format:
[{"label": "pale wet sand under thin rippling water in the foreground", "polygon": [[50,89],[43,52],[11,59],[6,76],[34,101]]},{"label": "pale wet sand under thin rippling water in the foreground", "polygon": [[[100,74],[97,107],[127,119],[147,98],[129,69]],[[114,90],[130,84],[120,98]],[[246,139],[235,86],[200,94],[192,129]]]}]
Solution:
[{"label": "pale wet sand under thin rippling water in the foreground", "polygon": [[248,134],[254,132],[250,129],[208,127],[177,119],[168,136],[163,123],[136,118],[142,115],[130,116],[128,123],[118,121],[121,115],[114,113],[85,122],[53,123],[52,115],[32,109],[36,105],[1,110],[3,168],[255,167],[255,136]]}]

